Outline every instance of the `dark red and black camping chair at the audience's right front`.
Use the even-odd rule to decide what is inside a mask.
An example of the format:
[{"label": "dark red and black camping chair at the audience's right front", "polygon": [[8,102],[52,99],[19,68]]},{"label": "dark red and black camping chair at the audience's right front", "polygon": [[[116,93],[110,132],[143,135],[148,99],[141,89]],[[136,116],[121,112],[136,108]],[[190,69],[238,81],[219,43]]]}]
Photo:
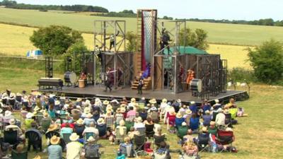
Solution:
[{"label": "dark red and black camping chair at the audience's right front", "polygon": [[233,131],[225,131],[221,129],[217,131],[216,143],[231,146],[234,140],[235,136],[233,135]]}]

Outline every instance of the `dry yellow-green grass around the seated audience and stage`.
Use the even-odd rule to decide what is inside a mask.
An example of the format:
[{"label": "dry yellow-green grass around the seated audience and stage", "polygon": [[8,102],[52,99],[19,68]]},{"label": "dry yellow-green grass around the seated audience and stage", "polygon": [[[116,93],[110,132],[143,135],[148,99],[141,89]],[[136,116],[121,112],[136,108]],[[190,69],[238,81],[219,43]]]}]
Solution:
[{"label": "dry yellow-green grass around the seated audience and stage", "polygon": [[[44,76],[43,71],[24,69],[0,68],[0,90],[11,88],[13,92],[36,88],[37,79]],[[59,75],[57,75],[59,76]],[[240,88],[238,88],[240,89]],[[233,143],[238,148],[238,153],[200,153],[202,158],[283,158],[283,88],[253,84],[250,99],[238,102],[238,107],[244,107],[248,117],[238,118],[239,124],[235,126],[236,141]],[[168,131],[163,130],[168,134]],[[177,136],[168,134],[168,143],[171,148],[180,148]],[[103,158],[115,158],[117,146],[110,146],[107,140],[102,143],[105,152]],[[45,142],[44,142],[45,144]],[[33,158],[35,153],[29,153]],[[42,159],[47,158],[46,153],[39,153]],[[177,159],[178,154],[172,154]]]}]

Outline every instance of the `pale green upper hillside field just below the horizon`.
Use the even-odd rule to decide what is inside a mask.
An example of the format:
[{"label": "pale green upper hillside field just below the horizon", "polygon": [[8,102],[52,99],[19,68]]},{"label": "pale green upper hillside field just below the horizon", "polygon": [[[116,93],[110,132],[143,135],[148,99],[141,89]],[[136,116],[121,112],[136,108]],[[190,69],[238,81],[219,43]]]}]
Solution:
[{"label": "pale green upper hillside field just below the horizon", "polygon": [[[110,18],[77,13],[0,8],[0,21],[6,23],[28,24],[32,26],[66,25],[76,30],[93,32],[93,20],[126,20],[128,31],[135,31],[137,28],[136,18]],[[187,25],[192,29],[202,28],[207,30],[209,33],[209,42],[258,45],[260,42],[269,40],[270,38],[283,41],[283,27],[202,22],[188,22]],[[173,23],[168,25],[168,28],[172,26]]]}]

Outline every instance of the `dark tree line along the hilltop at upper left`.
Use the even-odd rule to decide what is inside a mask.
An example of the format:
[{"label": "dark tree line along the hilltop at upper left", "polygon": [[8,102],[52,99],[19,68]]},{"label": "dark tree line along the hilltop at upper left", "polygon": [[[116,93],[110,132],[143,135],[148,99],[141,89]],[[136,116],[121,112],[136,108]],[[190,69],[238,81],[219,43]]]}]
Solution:
[{"label": "dark tree line along the hilltop at upper left", "polygon": [[91,11],[108,13],[108,9],[101,6],[86,6],[86,5],[71,5],[71,6],[57,6],[57,5],[33,5],[33,4],[17,4],[16,1],[0,1],[0,6],[5,6],[6,8],[16,8],[16,9],[37,9],[40,11],[48,10],[58,10],[58,11]]}]

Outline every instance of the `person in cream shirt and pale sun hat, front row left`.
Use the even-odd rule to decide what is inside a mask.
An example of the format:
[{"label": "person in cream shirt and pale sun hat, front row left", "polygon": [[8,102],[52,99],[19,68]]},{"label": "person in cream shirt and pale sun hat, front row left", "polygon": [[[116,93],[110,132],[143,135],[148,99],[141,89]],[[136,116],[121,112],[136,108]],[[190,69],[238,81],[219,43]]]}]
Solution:
[{"label": "person in cream shirt and pale sun hat, front row left", "polygon": [[67,159],[80,159],[83,145],[78,141],[79,135],[72,133],[69,139],[71,142],[67,144]]}]

